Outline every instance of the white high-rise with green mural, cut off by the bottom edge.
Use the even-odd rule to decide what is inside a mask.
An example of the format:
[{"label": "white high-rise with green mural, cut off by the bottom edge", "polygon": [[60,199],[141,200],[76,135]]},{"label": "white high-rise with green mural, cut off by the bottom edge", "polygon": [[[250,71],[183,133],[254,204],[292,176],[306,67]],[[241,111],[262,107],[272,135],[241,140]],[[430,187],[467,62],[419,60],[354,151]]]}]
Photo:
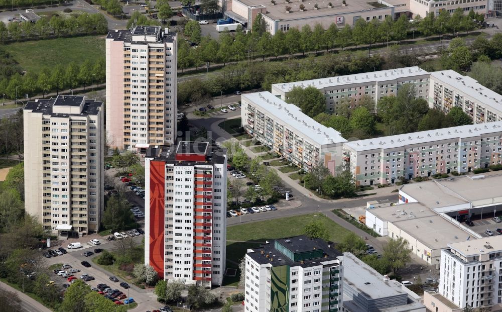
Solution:
[{"label": "white high-rise with green mural, cut off by the bottom edge", "polygon": [[271,240],[245,255],[245,311],[342,310],[343,255],[322,239]]}]

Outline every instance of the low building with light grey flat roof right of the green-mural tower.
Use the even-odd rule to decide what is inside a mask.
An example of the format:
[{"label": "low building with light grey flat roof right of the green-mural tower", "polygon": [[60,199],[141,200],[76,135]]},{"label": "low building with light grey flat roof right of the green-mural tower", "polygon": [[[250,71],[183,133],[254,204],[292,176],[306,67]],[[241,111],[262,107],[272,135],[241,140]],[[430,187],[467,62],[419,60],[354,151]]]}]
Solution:
[{"label": "low building with light grey flat roof right of the green-mural tower", "polygon": [[425,312],[420,296],[389,280],[349,252],[343,253],[343,310],[347,312]]}]

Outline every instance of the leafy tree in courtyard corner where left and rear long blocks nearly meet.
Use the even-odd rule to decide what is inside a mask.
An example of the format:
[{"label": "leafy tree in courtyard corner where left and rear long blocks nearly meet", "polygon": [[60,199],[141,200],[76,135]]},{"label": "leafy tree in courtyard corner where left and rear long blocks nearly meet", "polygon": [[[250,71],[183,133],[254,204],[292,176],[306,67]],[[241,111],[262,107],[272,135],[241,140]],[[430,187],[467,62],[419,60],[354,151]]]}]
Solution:
[{"label": "leafy tree in courtyard corner where left and rear long blocks nearly meet", "polygon": [[289,102],[299,107],[304,114],[314,117],[326,111],[326,98],[314,86],[295,86],[288,92]]}]

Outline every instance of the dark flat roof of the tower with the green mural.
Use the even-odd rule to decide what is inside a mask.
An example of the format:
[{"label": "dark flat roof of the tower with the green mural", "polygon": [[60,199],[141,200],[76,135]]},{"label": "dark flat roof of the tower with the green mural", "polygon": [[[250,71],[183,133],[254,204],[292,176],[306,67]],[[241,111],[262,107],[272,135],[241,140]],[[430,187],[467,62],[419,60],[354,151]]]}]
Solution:
[{"label": "dark flat roof of the tower with the green mural", "polygon": [[[290,240],[290,243],[286,243],[286,240]],[[291,249],[296,249],[293,252],[306,252],[311,251],[315,247],[316,250],[322,250],[323,256],[321,258],[312,258],[302,261],[293,261],[286,255],[277,250],[275,246],[275,241],[279,241],[281,246],[286,247],[286,245],[291,244]],[[291,250],[288,248],[288,250]],[[255,260],[259,264],[270,264],[272,266],[301,266],[301,267],[311,267],[320,265],[321,262],[332,261],[342,256],[342,253],[334,249],[332,245],[328,245],[324,240],[320,238],[309,239],[304,235],[289,237],[277,240],[271,240],[266,244],[261,245],[258,248],[253,248],[252,252],[247,252],[246,254]],[[262,253],[263,251],[263,253]]]}]

